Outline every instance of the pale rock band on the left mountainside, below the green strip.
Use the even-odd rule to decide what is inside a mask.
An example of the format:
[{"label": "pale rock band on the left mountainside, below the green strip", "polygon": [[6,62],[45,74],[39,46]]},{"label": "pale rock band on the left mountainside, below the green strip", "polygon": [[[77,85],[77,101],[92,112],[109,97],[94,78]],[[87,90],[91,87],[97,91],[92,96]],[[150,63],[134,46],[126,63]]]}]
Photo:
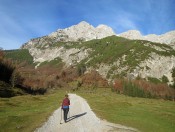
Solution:
[{"label": "pale rock band on the left mountainside, below the green strip", "polygon": [[51,61],[59,57],[65,63],[65,66],[75,65],[81,60],[88,57],[88,51],[90,49],[65,49],[64,47],[59,48],[48,48],[45,50],[38,48],[30,48],[29,52],[34,58],[34,62],[40,63],[44,61]]}]

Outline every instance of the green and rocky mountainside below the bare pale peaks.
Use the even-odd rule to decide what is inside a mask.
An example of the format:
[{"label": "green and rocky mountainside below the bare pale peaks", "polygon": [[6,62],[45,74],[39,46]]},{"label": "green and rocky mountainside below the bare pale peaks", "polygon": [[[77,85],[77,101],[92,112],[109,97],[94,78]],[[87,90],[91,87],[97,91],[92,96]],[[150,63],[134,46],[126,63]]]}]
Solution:
[{"label": "green and rocky mountainside below the bare pale peaks", "polygon": [[175,50],[166,44],[145,40],[129,40],[110,36],[85,42],[57,42],[52,45],[35,44],[29,48],[35,63],[58,59],[65,66],[84,66],[96,70],[109,81],[118,77],[134,79],[166,76],[169,83],[175,66]]}]

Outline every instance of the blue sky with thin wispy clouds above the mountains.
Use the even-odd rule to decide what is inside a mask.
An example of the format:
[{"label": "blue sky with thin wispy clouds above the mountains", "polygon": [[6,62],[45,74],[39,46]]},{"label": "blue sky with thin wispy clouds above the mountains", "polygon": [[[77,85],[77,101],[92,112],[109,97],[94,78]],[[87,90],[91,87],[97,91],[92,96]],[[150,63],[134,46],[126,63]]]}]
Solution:
[{"label": "blue sky with thin wispy clouds above the mountains", "polygon": [[0,47],[18,49],[32,38],[86,21],[119,34],[175,30],[175,0],[0,0]]}]

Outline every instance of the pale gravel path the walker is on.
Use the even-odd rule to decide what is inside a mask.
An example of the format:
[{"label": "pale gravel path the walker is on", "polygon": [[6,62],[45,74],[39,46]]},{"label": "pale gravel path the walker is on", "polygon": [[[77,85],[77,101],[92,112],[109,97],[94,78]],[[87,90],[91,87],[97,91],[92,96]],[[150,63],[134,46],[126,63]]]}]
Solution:
[{"label": "pale gravel path the walker is on", "polygon": [[89,107],[86,100],[76,94],[69,94],[71,101],[69,120],[64,123],[61,120],[61,108],[57,109],[48,121],[35,132],[135,132],[134,128],[109,123],[100,120]]}]

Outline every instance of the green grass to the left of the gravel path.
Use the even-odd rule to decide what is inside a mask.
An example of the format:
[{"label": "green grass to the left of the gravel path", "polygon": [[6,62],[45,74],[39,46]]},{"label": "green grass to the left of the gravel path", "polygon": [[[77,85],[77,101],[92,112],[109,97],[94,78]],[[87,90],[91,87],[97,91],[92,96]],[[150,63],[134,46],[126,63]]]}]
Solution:
[{"label": "green grass to the left of the gravel path", "polygon": [[31,132],[60,106],[65,91],[37,96],[0,98],[0,131]]}]

